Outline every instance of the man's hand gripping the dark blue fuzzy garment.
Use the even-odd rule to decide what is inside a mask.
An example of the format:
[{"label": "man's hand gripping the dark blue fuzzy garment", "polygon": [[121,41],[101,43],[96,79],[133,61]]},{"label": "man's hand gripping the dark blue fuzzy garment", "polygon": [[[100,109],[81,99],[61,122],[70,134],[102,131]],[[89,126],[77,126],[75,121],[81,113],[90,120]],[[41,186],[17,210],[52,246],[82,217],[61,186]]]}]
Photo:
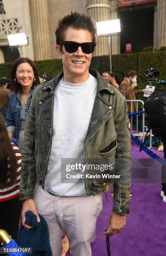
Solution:
[{"label": "man's hand gripping the dark blue fuzzy garment", "polygon": [[37,221],[40,222],[40,218],[38,216],[35,202],[33,201],[33,199],[28,199],[28,200],[23,201],[23,209],[21,212],[22,224],[25,228],[29,229],[29,228],[33,228],[33,227],[25,224],[25,220],[26,220],[25,212],[28,210],[31,210],[37,216]]}]

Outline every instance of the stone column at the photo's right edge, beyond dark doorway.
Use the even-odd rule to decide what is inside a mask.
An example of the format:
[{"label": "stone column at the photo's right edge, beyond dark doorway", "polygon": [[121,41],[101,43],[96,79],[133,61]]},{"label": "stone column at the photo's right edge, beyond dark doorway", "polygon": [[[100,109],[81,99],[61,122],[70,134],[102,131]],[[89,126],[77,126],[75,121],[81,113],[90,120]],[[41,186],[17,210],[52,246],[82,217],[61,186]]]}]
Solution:
[{"label": "stone column at the photo's right edge, beyond dark doorway", "polygon": [[153,47],[166,46],[166,0],[158,0],[154,12]]}]

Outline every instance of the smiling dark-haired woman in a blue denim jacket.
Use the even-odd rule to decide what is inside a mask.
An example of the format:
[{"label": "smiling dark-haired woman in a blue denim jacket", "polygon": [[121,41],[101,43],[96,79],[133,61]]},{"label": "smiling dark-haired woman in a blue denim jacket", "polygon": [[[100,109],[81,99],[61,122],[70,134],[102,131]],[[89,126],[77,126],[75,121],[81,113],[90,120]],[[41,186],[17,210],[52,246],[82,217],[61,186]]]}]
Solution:
[{"label": "smiling dark-haired woman in a blue denim jacket", "polygon": [[35,64],[31,59],[18,58],[11,70],[11,87],[6,123],[10,141],[16,136],[20,152],[23,136],[35,86],[40,83]]}]

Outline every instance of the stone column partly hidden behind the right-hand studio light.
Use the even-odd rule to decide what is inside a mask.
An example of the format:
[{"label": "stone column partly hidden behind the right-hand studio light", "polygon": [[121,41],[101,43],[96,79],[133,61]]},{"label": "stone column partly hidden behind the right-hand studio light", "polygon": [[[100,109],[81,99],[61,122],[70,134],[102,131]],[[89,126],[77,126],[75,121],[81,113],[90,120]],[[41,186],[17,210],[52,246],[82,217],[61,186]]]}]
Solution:
[{"label": "stone column partly hidden behind the right-hand studio light", "polygon": [[[96,22],[110,20],[110,4],[108,0],[87,0],[87,14]],[[94,56],[109,55],[107,37],[97,37]]]}]

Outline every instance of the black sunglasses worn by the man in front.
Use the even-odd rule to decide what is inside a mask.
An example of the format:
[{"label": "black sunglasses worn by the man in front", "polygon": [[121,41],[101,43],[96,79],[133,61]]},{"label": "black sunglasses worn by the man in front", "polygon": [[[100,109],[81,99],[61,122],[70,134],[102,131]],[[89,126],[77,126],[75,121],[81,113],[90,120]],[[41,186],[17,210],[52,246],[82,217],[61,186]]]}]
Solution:
[{"label": "black sunglasses worn by the man in front", "polygon": [[64,44],[64,49],[69,53],[74,53],[77,51],[79,46],[81,46],[81,49],[83,53],[85,54],[91,54],[94,51],[94,47],[96,46],[96,43],[76,43],[73,41],[61,41],[60,45]]}]

